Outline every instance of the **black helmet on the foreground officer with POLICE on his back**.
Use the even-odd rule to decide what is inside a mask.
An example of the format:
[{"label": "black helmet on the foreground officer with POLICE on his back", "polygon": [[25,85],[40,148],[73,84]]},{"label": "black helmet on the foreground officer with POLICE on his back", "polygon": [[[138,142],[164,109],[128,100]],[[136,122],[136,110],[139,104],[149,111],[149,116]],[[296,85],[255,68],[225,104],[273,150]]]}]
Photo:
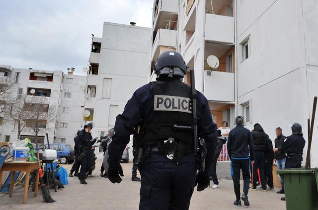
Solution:
[{"label": "black helmet on the foreground officer with POLICE on his back", "polygon": [[174,51],[163,52],[159,55],[154,67],[157,77],[168,76],[182,78],[187,74],[187,66],[182,56]]}]

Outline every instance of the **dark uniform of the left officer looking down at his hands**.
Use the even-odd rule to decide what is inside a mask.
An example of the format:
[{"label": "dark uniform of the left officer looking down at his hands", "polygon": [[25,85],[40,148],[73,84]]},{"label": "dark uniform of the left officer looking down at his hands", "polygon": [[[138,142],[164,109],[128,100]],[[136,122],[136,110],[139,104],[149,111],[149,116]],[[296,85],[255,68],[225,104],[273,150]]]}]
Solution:
[{"label": "dark uniform of the left officer looking down at his hands", "polygon": [[92,158],[92,150],[91,146],[94,142],[90,141],[93,138],[90,133],[86,133],[85,129],[79,132],[79,141],[82,146],[82,151],[85,151],[85,155],[80,160],[80,172],[79,172],[79,180],[85,179],[85,173],[88,171],[89,167],[93,164]]}]

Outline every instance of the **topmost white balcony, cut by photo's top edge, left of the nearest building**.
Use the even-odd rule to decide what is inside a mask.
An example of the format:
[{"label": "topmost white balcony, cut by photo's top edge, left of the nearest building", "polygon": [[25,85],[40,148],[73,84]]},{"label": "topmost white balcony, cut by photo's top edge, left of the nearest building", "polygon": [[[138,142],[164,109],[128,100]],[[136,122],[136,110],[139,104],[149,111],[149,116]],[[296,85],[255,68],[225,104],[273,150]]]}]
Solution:
[{"label": "topmost white balcony, cut by photo's top edge, left of the nearest building", "polygon": [[178,0],[159,0],[155,10],[154,31],[165,28],[166,20],[178,19]]}]

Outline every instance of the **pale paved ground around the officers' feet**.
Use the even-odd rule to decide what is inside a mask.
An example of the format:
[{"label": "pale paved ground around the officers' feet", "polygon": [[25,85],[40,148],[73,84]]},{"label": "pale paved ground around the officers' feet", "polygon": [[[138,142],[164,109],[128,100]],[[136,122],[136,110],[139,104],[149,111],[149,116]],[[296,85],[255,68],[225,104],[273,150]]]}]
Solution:
[{"label": "pale paved ground around the officers' feet", "polygon": [[[139,206],[140,182],[131,181],[131,163],[122,163],[125,179],[120,184],[112,184],[107,178],[99,176],[101,159],[97,159],[95,177],[87,178],[88,185],[79,184],[77,177],[69,178],[69,184],[58,192],[51,190],[52,198],[57,202],[46,204],[42,202],[41,193],[37,198],[29,192],[28,203],[22,205],[23,189],[16,188],[12,198],[0,194],[0,210],[137,210]],[[63,165],[70,170],[72,165]],[[285,202],[280,201],[281,195],[275,191],[263,193],[250,191],[249,201],[253,210],[285,210]],[[238,210],[246,207],[235,207],[233,182],[220,180],[218,189],[207,188],[203,192],[195,191],[192,196],[190,210]]]}]

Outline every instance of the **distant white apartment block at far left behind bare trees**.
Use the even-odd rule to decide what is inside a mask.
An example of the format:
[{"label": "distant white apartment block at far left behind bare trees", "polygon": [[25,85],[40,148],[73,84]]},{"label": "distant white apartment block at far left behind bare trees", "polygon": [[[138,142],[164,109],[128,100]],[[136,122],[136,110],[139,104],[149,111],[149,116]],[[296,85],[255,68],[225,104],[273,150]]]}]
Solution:
[{"label": "distant white apartment block at far left behind bare trees", "polygon": [[[74,144],[74,136],[83,125],[81,112],[84,106],[84,90],[80,91],[80,86],[85,87],[86,76],[73,75],[73,71],[64,74],[58,70],[18,69],[0,65],[0,77],[4,78],[1,81],[8,79],[14,83],[10,97],[6,100],[17,100],[16,103],[22,103],[20,108],[30,113],[41,104],[41,112],[38,115],[44,116],[44,120],[38,129],[38,142],[43,143],[44,136],[48,133],[51,142]],[[25,101],[18,101],[24,97]],[[35,117],[32,115],[32,119]],[[32,122],[27,123],[20,134],[20,140],[29,138],[35,142],[35,131],[32,128]],[[1,113],[0,141],[15,141],[17,135],[17,123]]]}]

